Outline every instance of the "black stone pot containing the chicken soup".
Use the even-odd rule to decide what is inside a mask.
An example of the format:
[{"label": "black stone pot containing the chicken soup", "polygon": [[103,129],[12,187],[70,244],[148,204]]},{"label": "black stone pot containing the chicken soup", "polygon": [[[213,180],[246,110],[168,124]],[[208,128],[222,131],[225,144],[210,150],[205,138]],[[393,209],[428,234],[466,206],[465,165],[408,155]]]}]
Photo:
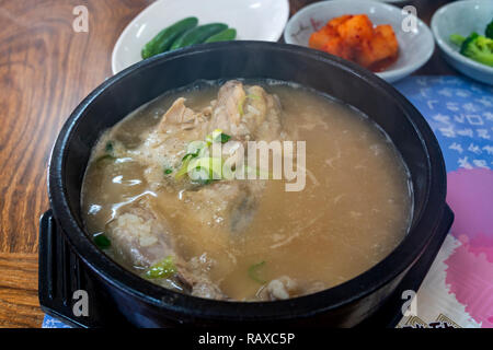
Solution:
[{"label": "black stone pot containing the chicken soup", "polygon": [[[409,234],[387,258],[316,294],[243,303],[165,290],[122,268],[92,243],[82,225],[80,190],[91,148],[101,132],[167,91],[202,79],[234,78],[276,79],[314,89],[355,106],[390,136],[411,173],[414,212]],[[197,45],[139,62],[106,80],[61,129],[49,163],[48,187],[59,232],[98,280],[96,288],[108,295],[127,322],[148,327],[355,326],[383,305],[428,246],[440,245],[445,234],[437,231],[448,230],[452,220],[445,203],[446,173],[438,142],[408,100],[377,75],[337,57],[260,42]]]}]

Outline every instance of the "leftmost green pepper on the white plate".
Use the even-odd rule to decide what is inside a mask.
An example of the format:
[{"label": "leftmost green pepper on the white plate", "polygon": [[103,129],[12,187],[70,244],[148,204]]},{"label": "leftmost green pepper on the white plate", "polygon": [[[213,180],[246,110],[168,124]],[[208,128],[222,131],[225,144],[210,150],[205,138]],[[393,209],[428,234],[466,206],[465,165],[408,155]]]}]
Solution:
[{"label": "leftmost green pepper on the white plate", "polygon": [[191,16],[181,20],[158,33],[149,43],[147,43],[140,52],[144,59],[162,54],[170,49],[171,45],[184,32],[197,26],[198,19]]}]

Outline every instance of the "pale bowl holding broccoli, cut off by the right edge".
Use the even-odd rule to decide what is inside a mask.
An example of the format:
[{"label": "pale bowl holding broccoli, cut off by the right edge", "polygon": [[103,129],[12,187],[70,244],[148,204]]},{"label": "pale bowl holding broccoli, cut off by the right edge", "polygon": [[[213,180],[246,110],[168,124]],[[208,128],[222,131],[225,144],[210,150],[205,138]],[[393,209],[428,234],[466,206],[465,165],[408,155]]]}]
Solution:
[{"label": "pale bowl holding broccoli, cut off by the right edge", "polygon": [[493,85],[493,67],[473,61],[459,52],[450,42],[450,34],[468,36],[471,32],[484,35],[493,19],[493,0],[467,0],[440,8],[432,19],[432,31],[445,59],[461,73]]}]

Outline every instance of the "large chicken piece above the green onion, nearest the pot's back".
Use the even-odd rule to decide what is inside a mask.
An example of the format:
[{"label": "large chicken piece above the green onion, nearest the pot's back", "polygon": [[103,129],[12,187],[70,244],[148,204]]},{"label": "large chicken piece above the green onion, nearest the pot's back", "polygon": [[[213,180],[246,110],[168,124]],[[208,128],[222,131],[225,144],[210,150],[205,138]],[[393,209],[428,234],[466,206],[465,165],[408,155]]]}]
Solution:
[{"label": "large chicken piece above the green onion, nearest the pot's back", "polygon": [[204,140],[215,129],[239,140],[255,139],[260,129],[262,139],[276,139],[280,133],[279,106],[262,88],[251,86],[246,95],[241,82],[229,81],[220,88],[213,106],[200,113],[177,98],[158,127],[140,136],[145,141],[130,155],[150,167],[146,172],[150,184],[159,183],[164,166],[177,168],[186,145]]}]

